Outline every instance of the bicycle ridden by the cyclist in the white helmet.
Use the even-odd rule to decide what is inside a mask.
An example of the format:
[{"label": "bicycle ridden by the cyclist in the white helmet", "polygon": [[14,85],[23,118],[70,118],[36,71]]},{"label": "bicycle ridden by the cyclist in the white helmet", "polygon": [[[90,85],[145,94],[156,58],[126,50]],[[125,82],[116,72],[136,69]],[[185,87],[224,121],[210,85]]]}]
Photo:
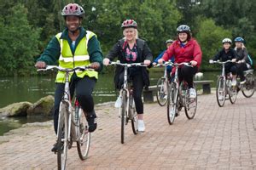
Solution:
[{"label": "bicycle ridden by the cyclist in the white helmet", "polygon": [[221,75],[218,77],[218,81],[217,81],[217,87],[216,87],[216,98],[217,98],[217,102],[218,102],[218,106],[219,107],[223,107],[225,100],[226,100],[226,95],[229,95],[229,99],[231,104],[235,104],[236,102],[236,95],[237,95],[237,85],[232,86],[231,82],[232,82],[232,74],[225,74],[225,69],[224,69],[224,65],[225,63],[229,63],[232,62],[231,60],[227,60],[227,61],[209,61],[210,64],[220,64],[222,65],[222,73]]}]

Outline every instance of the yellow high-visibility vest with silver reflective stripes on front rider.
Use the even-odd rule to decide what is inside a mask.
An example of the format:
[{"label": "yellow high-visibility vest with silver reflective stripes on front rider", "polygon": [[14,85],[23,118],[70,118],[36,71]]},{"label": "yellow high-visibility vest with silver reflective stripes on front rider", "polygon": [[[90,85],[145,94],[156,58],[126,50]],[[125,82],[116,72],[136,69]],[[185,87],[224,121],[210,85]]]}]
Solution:
[{"label": "yellow high-visibility vest with silver reflective stripes on front rider", "polygon": [[[61,33],[58,33],[55,37],[60,42],[61,55],[59,58],[59,65],[63,68],[74,68],[76,66],[90,65],[90,56],[88,54],[88,42],[91,37],[95,34],[91,31],[86,31],[86,37],[83,37],[74,51],[74,55],[71,48],[65,39],[61,39]],[[98,78],[96,71],[76,71],[78,77],[83,78],[84,76]],[[69,80],[73,73],[69,74]],[[55,82],[65,82],[65,73],[58,71]]]}]

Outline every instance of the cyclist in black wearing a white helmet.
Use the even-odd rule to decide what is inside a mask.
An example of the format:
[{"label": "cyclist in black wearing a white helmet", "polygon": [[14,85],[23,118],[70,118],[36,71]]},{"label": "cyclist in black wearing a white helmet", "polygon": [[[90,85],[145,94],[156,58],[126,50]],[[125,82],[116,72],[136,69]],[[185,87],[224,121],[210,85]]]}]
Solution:
[{"label": "cyclist in black wearing a white helmet", "polygon": [[231,48],[231,44],[232,41],[230,38],[224,38],[222,40],[222,44],[223,44],[223,48],[218,52],[218,54],[216,54],[213,59],[210,59],[210,63],[212,62],[212,60],[218,60],[221,59],[221,61],[227,61],[227,60],[231,60],[232,63],[225,63],[224,65],[224,69],[225,69],[225,73],[232,73],[232,82],[231,85],[232,86],[236,86],[236,74],[237,74],[237,67],[236,67],[236,60],[239,60],[236,51]]}]

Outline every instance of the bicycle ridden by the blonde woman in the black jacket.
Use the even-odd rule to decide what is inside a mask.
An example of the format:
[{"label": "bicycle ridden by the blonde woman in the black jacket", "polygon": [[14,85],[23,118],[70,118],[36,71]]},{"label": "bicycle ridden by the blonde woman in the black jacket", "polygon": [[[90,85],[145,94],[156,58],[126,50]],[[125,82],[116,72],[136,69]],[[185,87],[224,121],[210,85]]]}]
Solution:
[{"label": "bicycle ridden by the blonde woman in the black jacket", "polygon": [[128,68],[131,66],[146,66],[142,63],[120,63],[110,62],[109,65],[120,65],[125,68],[124,84],[119,91],[121,97],[121,106],[119,107],[119,115],[121,117],[121,144],[125,143],[125,125],[131,121],[131,128],[134,134],[137,134],[137,112],[135,109],[135,103],[133,99],[133,87],[131,82],[128,82]]}]

